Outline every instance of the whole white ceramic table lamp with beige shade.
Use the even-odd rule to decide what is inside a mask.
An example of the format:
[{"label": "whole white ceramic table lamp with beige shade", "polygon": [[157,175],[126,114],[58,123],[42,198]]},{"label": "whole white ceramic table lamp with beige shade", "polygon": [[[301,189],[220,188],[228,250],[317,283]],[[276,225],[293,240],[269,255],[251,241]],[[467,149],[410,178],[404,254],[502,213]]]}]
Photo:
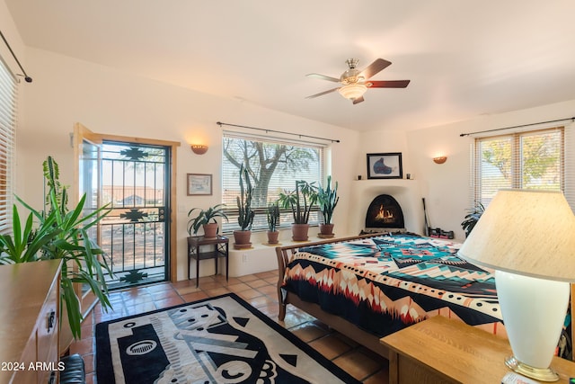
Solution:
[{"label": "whole white ceramic table lamp with beige shade", "polygon": [[540,381],[549,368],[575,281],[575,216],[562,192],[500,190],[459,250],[495,270],[513,356],[506,365]]}]

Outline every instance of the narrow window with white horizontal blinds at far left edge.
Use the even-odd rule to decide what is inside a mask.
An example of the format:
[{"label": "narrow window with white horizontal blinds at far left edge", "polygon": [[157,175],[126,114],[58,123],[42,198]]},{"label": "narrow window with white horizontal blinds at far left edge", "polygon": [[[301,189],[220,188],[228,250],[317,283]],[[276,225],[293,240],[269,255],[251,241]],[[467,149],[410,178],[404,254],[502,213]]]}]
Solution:
[{"label": "narrow window with white horizontal blinds at far left edge", "polygon": [[17,82],[0,58],[0,233],[12,231]]}]

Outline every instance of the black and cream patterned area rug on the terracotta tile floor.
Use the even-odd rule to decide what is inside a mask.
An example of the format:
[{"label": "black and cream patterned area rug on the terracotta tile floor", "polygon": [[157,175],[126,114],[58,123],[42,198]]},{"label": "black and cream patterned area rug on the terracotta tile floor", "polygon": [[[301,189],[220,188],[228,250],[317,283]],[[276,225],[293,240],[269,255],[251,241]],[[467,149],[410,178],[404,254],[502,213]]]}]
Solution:
[{"label": "black and cream patterned area rug on the terracotta tile floor", "polygon": [[96,325],[102,384],[358,383],[232,294]]}]

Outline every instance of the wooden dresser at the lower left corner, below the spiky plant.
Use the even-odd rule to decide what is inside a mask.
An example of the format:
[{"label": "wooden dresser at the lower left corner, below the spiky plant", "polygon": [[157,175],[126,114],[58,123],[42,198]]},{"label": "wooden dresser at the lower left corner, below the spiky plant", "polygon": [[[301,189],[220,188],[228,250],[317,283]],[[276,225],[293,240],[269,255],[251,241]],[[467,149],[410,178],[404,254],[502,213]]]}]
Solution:
[{"label": "wooden dresser at the lower left corner, below the spiky plant", "polygon": [[60,268],[0,265],[0,384],[57,382]]}]

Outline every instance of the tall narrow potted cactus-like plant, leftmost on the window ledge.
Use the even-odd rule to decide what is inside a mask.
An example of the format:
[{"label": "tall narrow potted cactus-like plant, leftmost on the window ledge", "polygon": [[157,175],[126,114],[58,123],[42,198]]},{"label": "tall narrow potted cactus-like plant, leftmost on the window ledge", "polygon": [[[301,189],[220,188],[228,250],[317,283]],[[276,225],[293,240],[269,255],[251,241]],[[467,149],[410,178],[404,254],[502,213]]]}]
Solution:
[{"label": "tall narrow potted cactus-like plant, leftmost on the window ledge", "polygon": [[252,210],[252,196],[253,187],[250,174],[242,164],[240,167],[240,195],[235,198],[238,210],[237,223],[240,226],[240,230],[234,230],[235,249],[252,246],[250,237],[252,237],[252,224],[255,216],[255,212]]}]

